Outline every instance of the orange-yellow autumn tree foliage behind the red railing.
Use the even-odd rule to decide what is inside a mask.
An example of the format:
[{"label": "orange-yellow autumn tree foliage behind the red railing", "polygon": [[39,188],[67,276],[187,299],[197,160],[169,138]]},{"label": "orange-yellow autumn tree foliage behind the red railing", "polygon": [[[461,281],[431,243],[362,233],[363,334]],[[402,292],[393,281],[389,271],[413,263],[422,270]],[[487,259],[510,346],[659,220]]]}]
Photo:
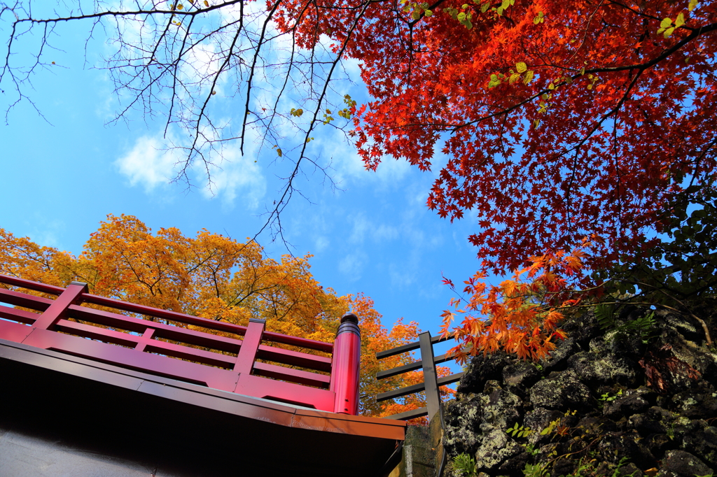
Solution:
[{"label": "orange-yellow autumn tree foliage behind the red railing", "polygon": [[255,242],[242,244],[206,230],[195,237],[177,228],[153,233],[138,218],[124,215],[101,222],[79,256],[0,228],[0,274],[56,286],[84,281],[93,294],[234,324],[261,318],[269,331],[325,342],[333,342],[339,318],[352,311],[361,319],[360,412],[386,415],[422,406],[419,398],[374,400],[379,392],[421,380],[420,373],[375,379],[379,370],[412,361],[379,362],[376,352],[415,341],[417,324],[399,319],[387,330],[369,297],[339,297],[321,286],[310,273],[309,259],[285,255],[275,261]]}]

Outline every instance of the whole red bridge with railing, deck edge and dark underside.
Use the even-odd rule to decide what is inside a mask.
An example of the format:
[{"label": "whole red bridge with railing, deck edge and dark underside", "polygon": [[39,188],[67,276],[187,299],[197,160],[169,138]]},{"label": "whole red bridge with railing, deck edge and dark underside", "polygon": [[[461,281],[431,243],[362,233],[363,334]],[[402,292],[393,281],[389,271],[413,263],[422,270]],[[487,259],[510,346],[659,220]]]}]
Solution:
[{"label": "whole red bridge with railing, deck edge and dark underside", "polygon": [[99,297],[78,282],[0,283],[27,290],[0,289],[13,306],[0,305],[6,475],[378,477],[400,459],[404,423],[356,416],[353,314],[331,344],[267,332],[263,320],[242,327]]}]

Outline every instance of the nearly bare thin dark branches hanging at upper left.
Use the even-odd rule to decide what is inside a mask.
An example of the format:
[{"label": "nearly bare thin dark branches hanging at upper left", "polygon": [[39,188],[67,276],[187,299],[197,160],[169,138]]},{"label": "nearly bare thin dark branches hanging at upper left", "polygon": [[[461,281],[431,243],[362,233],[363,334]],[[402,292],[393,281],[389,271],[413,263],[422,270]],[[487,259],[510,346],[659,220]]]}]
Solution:
[{"label": "nearly bare thin dark branches hanging at upper left", "polygon": [[[293,94],[289,82],[297,82],[298,78],[294,77],[295,72],[299,70],[299,74],[307,73],[308,77],[305,77],[303,85],[306,85],[309,92],[309,100],[315,102],[314,115],[308,130],[305,131],[305,141],[298,151],[299,157],[296,160],[291,160],[292,168],[284,176],[287,183],[280,197],[274,202],[275,207],[270,211],[267,210],[267,223],[252,238],[255,240],[268,226],[272,226],[275,231],[274,238],[279,237],[290,246],[283,234],[279,215],[295,192],[303,196],[303,193],[296,190],[294,180],[303,174],[302,168],[313,166],[314,173],[320,171],[323,173],[323,180],[325,182],[328,180],[332,187],[336,187],[331,176],[328,175],[330,164],[325,165],[323,161],[319,163],[318,159],[307,157],[306,143],[310,138],[310,133],[320,122],[318,117],[324,106],[323,103],[331,100],[328,93],[332,91],[331,86],[337,77],[336,73],[338,67],[341,66],[342,56],[346,53],[349,42],[353,41],[356,27],[364,19],[364,13],[369,7],[370,1],[362,1],[361,4],[348,9],[348,11],[355,12],[353,22],[346,32],[346,39],[343,41],[340,51],[338,54],[334,52],[333,58],[328,61],[325,61],[325,54],[320,49],[323,48],[323,45],[315,44],[313,47],[309,47],[308,53],[298,49],[299,42],[296,39],[296,32],[301,26],[303,17],[308,14],[307,12],[312,6],[318,8],[310,1],[300,6],[295,24],[285,30],[279,29],[277,34],[272,33],[272,28],[275,28],[274,25],[279,22],[277,19],[279,9],[287,7],[285,0],[272,1],[266,11],[259,9],[254,13],[245,11],[245,2],[242,0],[221,1],[206,8],[202,8],[201,3],[203,2],[196,1],[191,6],[187,3],[184,5],[185,8],[179,10],[179,2],[176,1],[169,8],[158,9],[135,2],[136,8],[128,10],[115,6],[89,14],[85,14],[83,11],[77,13],[70,11],[69,14],[41,19],[35,18],[32,11],[20,1],[16,2],[14,6],[0,4],[0,14],[3,15],[3,20],[7,18],[6,23],[11,26],[4,52],[4,64],[0,66],[0,81],[11,81],[17,92],[16,100],[6,110],[6,122],[14,105],[25,100],[44,118],[32,99],[25,94],[25,89],[36,69],[49,67],[49,64],[44,63],[42,57],[47,54],[45,47],[54,26],[69,22],[94,21],[94,26],[91,29],[93,32],[100,21],[113,19],[112,26],[116,30],[115,42],[118,44],[119,50],[107,60],[105,68],[108,69],[115,81],[115,95],[120,102],[120,108],[110,122],[120,119],[127,121],[128,113],[135,109],[143,110],[143,116],[145,120],[148,120],[155,116],[161,107],[162,112],[166,113],[162,114],[163,138],[167,144],[164,150],[179,152],[179,159],[176,161],[174,170],[176,175],[172,182],[181,180],[186,183],[188,189],[191,189],[194,187],[190,177],[190,175],[193,176],[191,170],[192,168],[201,168],[204,171],[204,178],[206,178],[206,186],[213,191],[212,176],[220,165],[217,157],[221,158],[222,148],[229,141],[238,140],[239,152],[244,154],[246,142],[249,140],[248,131],[255,127],[263,133],[260,148],[264,148],[269,143],[278,143],[277,128],[275,127],[277,115],[293,122],[295,120],[288,115],[281,115],[277,107],[279,107],[285,92]],[[232,8],[236,9],[236,13],[227,10]],[[329,9],[333,9],[333,7]],[[202,29],[206,26],[206,22],[201,23],[199,19],[204,19],[209,14],[216,14],[219,11],[222,12],[219,23],[210,26],[209,29]],[[224,15],[225,11],[229,12],[229,16]],[[14,15],[14,18],[10,18],[9,15]],[[129,34],[133,32],[123,30],[130,24],[140,25],[137,33],[140,36],[139,39],[130,38]],[[34,59],[34,64],[27,71],[21,70],[14,64],[17,61],[14,57],[14,52],[18,49],[17,40],[27,33],[25,30],[29,32],[33,26],[42,29],[39,35],[39,49],[30,57]],[[85,41],[85,52],[89,39],[92,37],[91,32]],[[317,40],[319,34],[322,33],[317,30]],[[252,107],[252,100],[256,100],[258,95],[260,72],[277,67],[276,64],[265,64],[265,57],[270,54],[267,52],[267,45],[276,44],[284,35],[291,38],[290,53],[285,63],[279,64],[284,77],[280,79],[279,94],[273,100],[274,107],[264,115],[261,111],[255,111],[257,108]],[[202,67],[197,67],[192,62],[196,61],[194,57],[198,56],[197,52],[204,54],[202,48],[206,44],[209,44],[216,54],[207,60],[210,62],[209,67],[200,70],[198,68]],[[251,60],[248,60],[249,54],[247,53],[252,54]],[[162,58],[161,55],[164,57]],[[246,62],[244,58],[247,59]],[[302,60],[305,61],[302,62]],[[16,74],[16,71],[22,71],[23,74]],[[236,130],[238,134],[231,132],[230,123],[215,122],[210,115],[214,103],[212,99],[222,84],[222,80],[234,71],[242,74],[242,80],[237,80],[239,87],[246,88],[243,91],[237,88],[239,91],[234,93],[244,96],[244,111],[240,113],[243,117]],[[191,76],[187,77],[187,74]],[[320,77],[323,87],[315,89],[316,77]],[[273,77],[270,77],[270,81],[273,81]],[[125,100],[125,97],[120,96],[120,90],[128,90],[132,95]],[[170,91],[166,99],[161,94],[164,90]],[[262,108],[262,111],[265,109]],[[186,143],[171,138],[173,126],[189,130],[190,136]],[[331,126],[337,127],[333,124]],[[275,162],[272,161],[272,164]]]}]

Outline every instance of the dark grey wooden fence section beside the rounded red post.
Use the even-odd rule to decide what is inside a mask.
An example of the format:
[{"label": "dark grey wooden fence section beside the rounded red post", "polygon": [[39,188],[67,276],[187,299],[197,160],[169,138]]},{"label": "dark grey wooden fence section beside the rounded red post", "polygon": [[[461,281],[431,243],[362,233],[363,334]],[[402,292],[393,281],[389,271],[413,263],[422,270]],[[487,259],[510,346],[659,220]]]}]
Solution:
[{"label": "dark grey wooden fence section beside the rounded red post", "polygon": [[388,419],[397,420],[409,420],[414,418],[420,418],[427,415],[429,420],[432,419],[441,410],[441,397],[440,390],[441,386],[450,385],[453,382],[457,382],[463,376],[463,372],[457,372],[450,376],[437,377],[436,365],[442,362],[447,362],[455,359],[455,356],[446,353],[445,355],[434,356],[433,345],[445,342],[453,338],[453,334],[439,335],[432,337],[429,332],[419,334],[419,340],[409,344],[404,344],[399,347],[395,347],[391,350],[381,351],[376,353],[376,358],[381,360],[386,357],[400,355],[401,353],[411,352],[414,350],[421,351],[421,359],[417,362],[409,363],[408,365],[402,365],[394,367],[390,370],[379,371],[376,373],[376,380],[386,379],[388,377],[394,377],[401,375],[404,372],[411,372],[417,370],[423,370],[423,382],[419,382],[416,385],[402,387],[397,390],[381,392],[376,395],[376,401],[395,399],[397,397],[407,396],[416,392],[426,392],[426,406],[424,408],[418,408],[414,410],[406,411],[405,413],[399,413],[394,415],[386,416]]}]

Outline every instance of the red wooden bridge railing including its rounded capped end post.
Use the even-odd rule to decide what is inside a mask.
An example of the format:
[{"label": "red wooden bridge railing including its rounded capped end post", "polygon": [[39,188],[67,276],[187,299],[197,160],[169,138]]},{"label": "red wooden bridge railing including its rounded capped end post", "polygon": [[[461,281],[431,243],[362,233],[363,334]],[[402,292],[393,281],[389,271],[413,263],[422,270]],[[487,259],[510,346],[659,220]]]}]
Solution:
[{"label": "red wooden bridge railing including its rounded capped end post", "polygon": [[[251,319],[249,326],[242,327],[99,297],[88,293],[87,285],[77,281],[61,288],[0,274],[0,284],[57,297],[48,299],[0,288],[1,303],[36,311],[0,305],[0,339],[242,395],[335,413],[355,415],[358,411],[361,338],[358,319],[353,314],[341,319],[336,342],[331,344],[267,332],[260,319]],[[186,325],[242,339],[189,329]],[[333,359],[262,342],[333,353]]]}]

